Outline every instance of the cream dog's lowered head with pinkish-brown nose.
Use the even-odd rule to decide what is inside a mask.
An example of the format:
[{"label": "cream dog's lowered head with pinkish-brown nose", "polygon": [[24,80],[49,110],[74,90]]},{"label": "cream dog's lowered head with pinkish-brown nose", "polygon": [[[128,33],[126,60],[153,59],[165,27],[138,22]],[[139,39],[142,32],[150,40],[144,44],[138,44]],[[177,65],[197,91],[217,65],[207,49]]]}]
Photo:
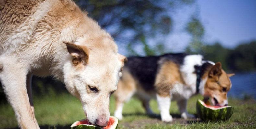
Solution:
[{"label": "cream dog's lowered head with pinkish-brown nose", "polygon": [[71,55],[64,64],[66,87],[80,99],[88,121],[104,127],[110,116],[110,96],[117,89],[127,59],[117,53],[117,46],[109,37],[64,43]]}]

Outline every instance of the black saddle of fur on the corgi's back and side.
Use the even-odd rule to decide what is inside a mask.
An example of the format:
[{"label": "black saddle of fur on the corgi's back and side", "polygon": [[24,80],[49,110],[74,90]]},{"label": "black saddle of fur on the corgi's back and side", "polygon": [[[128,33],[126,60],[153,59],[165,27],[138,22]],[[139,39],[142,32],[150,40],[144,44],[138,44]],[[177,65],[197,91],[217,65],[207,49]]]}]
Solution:
[{"label": "black saddle of fur on the corgi's back and side", "polygon": [[173,61],[178,65],[182,65],[185,56],[187,56],[185,53],[169,53],[161,56],[128,57],[125,67],[129,69],[134,78],[138,79],[145,91],[152,91],[154,90],[155,78],[161,63]]}]

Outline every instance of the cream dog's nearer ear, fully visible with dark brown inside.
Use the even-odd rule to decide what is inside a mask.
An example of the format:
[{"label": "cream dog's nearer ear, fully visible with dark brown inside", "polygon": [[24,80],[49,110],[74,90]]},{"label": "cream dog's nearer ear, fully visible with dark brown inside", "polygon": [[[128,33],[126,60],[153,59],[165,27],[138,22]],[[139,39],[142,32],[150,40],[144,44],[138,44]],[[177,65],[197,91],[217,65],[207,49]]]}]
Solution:
[{"label": "cream dog's nearer ear, fully visible with dark brown inside", "polygon": [[72,63],[76,66],[79,63],[87,64],[89,59],[89,49],[86,46],[76,45],[74,43],[63,41],[67,46],[67,50],[73,56]]}]

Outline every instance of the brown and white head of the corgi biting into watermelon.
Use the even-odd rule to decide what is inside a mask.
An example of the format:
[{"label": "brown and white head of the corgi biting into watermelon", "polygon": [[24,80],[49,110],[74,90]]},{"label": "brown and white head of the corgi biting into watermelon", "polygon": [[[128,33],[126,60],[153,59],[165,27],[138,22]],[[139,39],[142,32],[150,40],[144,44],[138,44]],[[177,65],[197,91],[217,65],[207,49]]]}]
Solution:
[{"label": "brown and white head of the corgi biting into watermelon", "polygon": [[206,79],[203,96],[210,97],[213,105],[228,105],[227,92],[232,86],[229,77],[233,75],[234,74],[227,74],[221,68],[220,62],[210,66],[208,72],[203,76],[203,78]]}]

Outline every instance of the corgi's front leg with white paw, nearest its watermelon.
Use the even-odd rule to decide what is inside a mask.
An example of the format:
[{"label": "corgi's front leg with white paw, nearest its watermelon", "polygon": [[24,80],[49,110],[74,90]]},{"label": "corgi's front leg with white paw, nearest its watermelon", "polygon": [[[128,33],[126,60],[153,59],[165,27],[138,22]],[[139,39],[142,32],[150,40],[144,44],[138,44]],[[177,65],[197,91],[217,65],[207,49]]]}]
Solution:
[{"label": "corgi's front leg with white paw, nearest its watermelon", "polygon": [[187,112],[187,109],[186,109],[187,108],[187,100],[186,99],[177,101],[177,104],[178,104],[178,107],[180,110],[181,118],[184,118],[184,119],[195,118],[194,115],[189,114]]}]

